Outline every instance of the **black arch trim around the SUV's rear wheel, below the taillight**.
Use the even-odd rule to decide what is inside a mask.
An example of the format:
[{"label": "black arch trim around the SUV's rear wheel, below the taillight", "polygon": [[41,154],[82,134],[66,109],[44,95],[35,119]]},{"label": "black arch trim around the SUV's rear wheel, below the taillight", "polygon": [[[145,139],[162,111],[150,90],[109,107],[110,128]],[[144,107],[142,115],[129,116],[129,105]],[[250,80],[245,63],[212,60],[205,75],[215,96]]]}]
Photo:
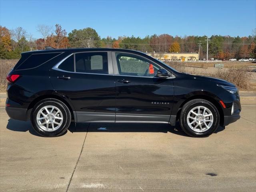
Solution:
[{"label": "black arch trim around the SUV's rear wheel, below the taillight", "polygon": [[61,102],[63,102],[70,110],[71,121],[75,121],[76,116],[74,116],[74,108],[72,108],[72,104],[70,104],[64,96],[59,96],[56,94],[44,94],[44,95],[38,96],[34,100],[32,100],[32,102],[30,102],[30,104],[28,106],[26,119],[30,120],[32,109],[38,102],[40,102],[43,99],[50,99],[50,98],[57,99],[57,100],[60,100]]}]

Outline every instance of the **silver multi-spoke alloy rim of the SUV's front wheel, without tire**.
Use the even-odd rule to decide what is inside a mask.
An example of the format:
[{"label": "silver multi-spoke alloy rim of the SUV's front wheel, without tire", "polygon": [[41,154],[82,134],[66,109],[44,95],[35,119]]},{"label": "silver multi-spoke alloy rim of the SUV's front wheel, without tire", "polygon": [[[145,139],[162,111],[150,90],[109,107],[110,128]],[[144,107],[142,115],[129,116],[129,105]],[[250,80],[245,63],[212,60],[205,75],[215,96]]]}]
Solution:
[{"label": "silver multi-spoke alloy rim of the SUV's front wheel, without tire", "polygon": [[188,112],[187,123],[193,131],[205,132],[213,124],[213,114],[207,107],[196,106]]}]

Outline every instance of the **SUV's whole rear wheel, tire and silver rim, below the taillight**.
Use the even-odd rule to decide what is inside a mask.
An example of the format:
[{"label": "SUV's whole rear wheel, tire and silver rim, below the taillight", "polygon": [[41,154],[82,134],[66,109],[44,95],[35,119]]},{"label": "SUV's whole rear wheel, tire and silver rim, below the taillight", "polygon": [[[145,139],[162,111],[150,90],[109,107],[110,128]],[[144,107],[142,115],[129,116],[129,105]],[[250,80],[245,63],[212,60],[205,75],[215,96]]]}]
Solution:
[{"label": "SUV's whole rear wheel, tire and silver rim, below the taillight", "polygon": [[70,110],[60,100],[44,99],[34,106],[31,122],[34,130],[42,136],[60,136],[70,126]]}]

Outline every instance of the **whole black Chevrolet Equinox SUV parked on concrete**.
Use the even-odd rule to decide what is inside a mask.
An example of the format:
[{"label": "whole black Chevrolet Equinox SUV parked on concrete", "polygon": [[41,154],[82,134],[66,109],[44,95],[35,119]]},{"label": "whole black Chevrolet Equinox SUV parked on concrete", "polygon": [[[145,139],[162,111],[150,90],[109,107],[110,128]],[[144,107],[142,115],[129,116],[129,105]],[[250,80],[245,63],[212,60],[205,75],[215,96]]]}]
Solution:
[{"label": "whole black Chevrolet Equinox SUV parked on concrete", "polygon": [[42,136],[70,122],[169,123],[204,137],[240,118],[238,90],[180,73],[142,52],[111,48],[22,53],[7,76],[6,112]]}]

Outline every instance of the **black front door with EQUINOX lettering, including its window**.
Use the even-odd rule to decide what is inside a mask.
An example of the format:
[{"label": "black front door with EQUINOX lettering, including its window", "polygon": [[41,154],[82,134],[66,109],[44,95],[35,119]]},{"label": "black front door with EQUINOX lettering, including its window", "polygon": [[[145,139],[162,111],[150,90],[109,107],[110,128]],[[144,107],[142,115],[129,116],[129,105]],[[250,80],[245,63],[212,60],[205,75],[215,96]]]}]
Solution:
[{"label": "black front door with EQUINOX lettering, including its window", "polygon": [[169,122],[173,79],[156,77],[161,67],[135,54],[112,52],[116,122]]}]

